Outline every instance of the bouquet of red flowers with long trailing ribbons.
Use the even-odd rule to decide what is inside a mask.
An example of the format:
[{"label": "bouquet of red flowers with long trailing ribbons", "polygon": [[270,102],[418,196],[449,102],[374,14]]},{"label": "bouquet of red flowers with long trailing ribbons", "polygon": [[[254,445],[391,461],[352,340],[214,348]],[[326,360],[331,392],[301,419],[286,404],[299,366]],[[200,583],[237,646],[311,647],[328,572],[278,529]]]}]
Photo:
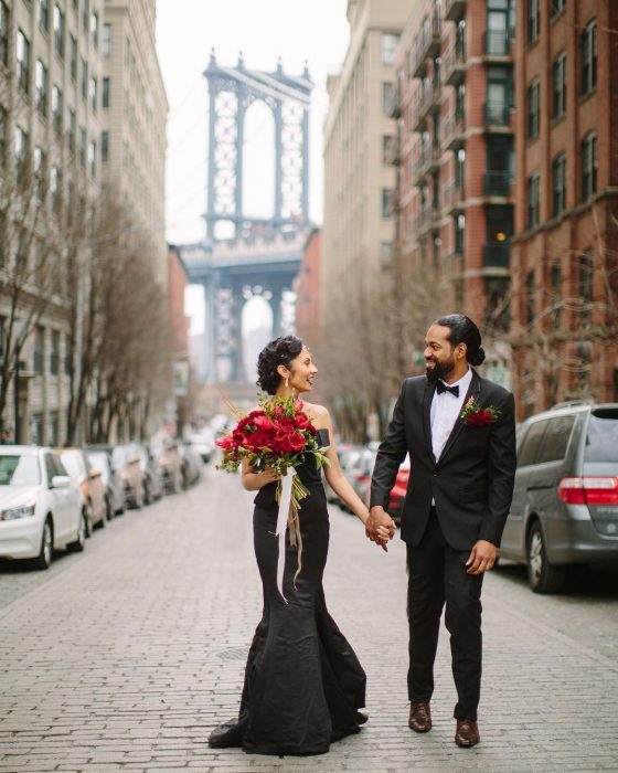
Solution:
[{"label": "bouquet of red flowers with long trailing ribbons", "polygon": [[[223,462],[217,469],[234,473],[246,459],[256,472],[271,467],[278,474],[275,496],[279,504],[279,518],[276,534],[280,540],[285,540],[287,522],[290,543],[298,550],[296,580],[302,555],[298,511],[300,501],[309,491],[298,475],[294,474],[294,468],[308,455],[313,456],[318,469],[330,465],[330,459],[326,456],[328,446],[320,446],[318,431],[305,413],[303,403],[294,398],[263,398],[259,400],[259,407],[243,416],[228,435],[216,441],[216,445],[223,451]],[[278,569],[281,595],[284,557],[285,542],[281,541]]]}]

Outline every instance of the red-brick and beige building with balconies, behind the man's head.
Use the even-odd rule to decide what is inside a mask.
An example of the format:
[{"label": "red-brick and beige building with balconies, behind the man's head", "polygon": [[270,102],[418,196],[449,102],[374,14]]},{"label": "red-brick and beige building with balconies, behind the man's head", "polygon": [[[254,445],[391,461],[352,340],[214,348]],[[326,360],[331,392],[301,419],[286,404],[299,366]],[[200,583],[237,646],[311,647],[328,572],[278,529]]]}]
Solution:
[{"label": "red-brick and beige building with balconies, behind the man's head", "polygon": [[436,311],[479,324],[507,383],[514,19],[514,0],[413,3],[397,55],[395,159],[403,265]]}]

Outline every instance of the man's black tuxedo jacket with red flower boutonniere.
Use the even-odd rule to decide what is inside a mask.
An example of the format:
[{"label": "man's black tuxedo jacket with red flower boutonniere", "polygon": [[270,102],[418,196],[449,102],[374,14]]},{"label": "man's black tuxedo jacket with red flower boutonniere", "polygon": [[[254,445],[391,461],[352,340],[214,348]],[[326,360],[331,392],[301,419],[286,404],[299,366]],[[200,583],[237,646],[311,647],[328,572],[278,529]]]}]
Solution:
[{"label": "man's black tuxedo jacket with red flower boutonniere", "polygon": [[431,499],[440,528],[455,550],[469,550],[479,539],[500,546],[515,477],[513,395],[472,371],[464,405],[475,398],[501,414],[492,424],[470,426],[459,416],[438,460],[431,451],[430,407],[435,384],[426,377],[406,379],[381,443],[371,481],[371,507],[386,509],[399,464],[409,453],[411,469],[402,511],[402,539],[418,544]]}]

